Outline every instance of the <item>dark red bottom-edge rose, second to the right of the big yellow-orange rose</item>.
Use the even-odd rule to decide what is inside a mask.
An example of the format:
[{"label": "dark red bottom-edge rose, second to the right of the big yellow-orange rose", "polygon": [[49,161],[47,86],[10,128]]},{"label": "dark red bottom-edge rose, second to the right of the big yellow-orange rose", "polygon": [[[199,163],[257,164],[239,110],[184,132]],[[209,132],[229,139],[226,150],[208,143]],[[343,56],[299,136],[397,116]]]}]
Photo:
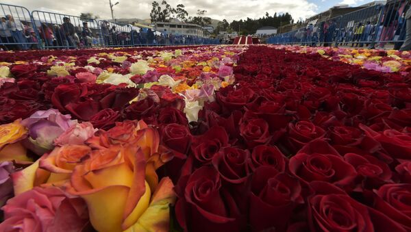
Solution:
[{"label": "dark red bottom-edge rose, second to the right of the big yellow-orange rose", "polygon": [[[270,166],[257,168],[251,180],[249,220],[252,231],[285,231],[292,210],[304,203],[301,184]],[[274,216],[275,215],[275,216]]]}]

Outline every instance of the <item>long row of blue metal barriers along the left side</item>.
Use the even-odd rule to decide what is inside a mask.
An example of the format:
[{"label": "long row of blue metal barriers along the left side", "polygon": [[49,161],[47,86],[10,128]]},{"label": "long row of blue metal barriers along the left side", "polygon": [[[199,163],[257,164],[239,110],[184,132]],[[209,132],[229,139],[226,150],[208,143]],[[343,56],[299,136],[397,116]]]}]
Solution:
[{"label": "long row of blue metal barriers along the left side", "polygon": [[75,49],[189,44],[220,44],[218,39],[169,34],[149,28],[122,25],[0,3],[0,47],[7,50]]}]

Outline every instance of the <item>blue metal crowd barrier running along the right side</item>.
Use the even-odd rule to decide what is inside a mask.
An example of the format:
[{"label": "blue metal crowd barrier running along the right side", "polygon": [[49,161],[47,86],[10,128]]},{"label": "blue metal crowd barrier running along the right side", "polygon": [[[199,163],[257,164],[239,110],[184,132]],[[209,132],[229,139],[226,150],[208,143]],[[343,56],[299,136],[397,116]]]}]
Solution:
[{"label": "blue metal crowd barrier running along the right side", "polygon": [[307,46],[384,47],[387,42],[399,49],[406,37],[405,14],[410,3],[388,1],[342,16],[266,38],[270,44]]}]

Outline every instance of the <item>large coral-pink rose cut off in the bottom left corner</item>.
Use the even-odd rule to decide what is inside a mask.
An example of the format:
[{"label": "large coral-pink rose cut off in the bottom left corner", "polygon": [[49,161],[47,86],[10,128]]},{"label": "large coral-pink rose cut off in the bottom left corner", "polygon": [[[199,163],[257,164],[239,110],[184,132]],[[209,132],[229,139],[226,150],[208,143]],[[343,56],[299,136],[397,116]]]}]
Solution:
[{"label": "large coral-pink rose cut off in the bottom left corner", "polygon": [[82,198],[54,187],[23,192],[2,209],[5,220],[0,231],[82,231],[89,223]]}]

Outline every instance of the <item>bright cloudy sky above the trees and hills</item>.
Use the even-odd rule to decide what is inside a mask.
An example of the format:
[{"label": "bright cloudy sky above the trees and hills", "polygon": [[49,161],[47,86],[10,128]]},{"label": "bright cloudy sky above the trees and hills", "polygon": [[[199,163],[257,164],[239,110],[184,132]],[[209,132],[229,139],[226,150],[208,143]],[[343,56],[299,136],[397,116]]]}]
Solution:
[{"label": "bright cloudy sky above the trees and hills", "polygon": [[[149,18],[153,0],[112,0],[116,18]],[[161,0],[158,0],[160,2]],[[3,3],[23,5],[29,10],[43,10],[62,14],[79,15],[92,12],[100,18],[111,18],[109,0],[4,0]],[[306,18],[328,8],[345,3],[352,6],[371,2],[370,0],[168,0],[172,6],[182,3],[191,15],[197,9],[207,10],[207,16],[228,21],[240,18],[259,18],[269,14],[289,12],[293,18]]]}]

